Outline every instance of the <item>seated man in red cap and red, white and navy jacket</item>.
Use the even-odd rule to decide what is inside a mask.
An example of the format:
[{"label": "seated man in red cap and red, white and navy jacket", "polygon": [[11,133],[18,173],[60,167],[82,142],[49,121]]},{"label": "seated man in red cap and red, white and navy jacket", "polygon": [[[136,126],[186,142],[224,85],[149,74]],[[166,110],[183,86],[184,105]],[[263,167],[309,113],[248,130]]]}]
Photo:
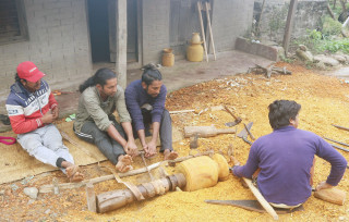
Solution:
[{"label": "seated man in red cap and red, white and navy jacket", "polygon": [[59,110],[51,89],[41,79],[45,74],[29,61],[20,63],[16,70],[7,110],[17,141],[37,160],[60,168],[71,182],[82,181],[84,175],[52,124]]}]

